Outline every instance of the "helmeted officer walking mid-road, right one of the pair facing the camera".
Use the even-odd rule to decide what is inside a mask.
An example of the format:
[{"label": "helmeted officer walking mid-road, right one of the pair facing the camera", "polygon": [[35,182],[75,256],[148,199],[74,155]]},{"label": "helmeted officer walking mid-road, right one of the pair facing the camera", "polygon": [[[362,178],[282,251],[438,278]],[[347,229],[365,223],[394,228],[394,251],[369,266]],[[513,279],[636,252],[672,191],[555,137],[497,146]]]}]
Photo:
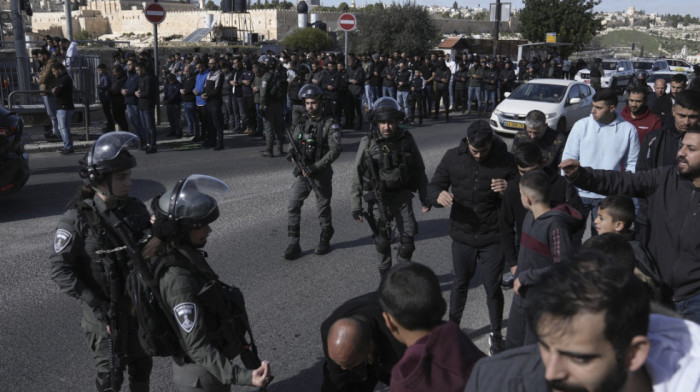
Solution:
[{"label": "helmeted officer walking mid-road, right one of the pair facing the camera", "polygon": [[[363,222],[362,199],[367,201],[364,215],[374,233],[382,278],[391,268],[391,221],[396,222],[400,245],[399,262],[410,261],[418,232],[413,214],[413,194],[418,192],[422,212],[430,211],[427,199],[428,177],[413,136],[399,127],[404,113],[398,102],[383,97],[374,103],[370,136],[360,141],[355,157],[352,196],[352,217]],[[383,209],[383,210],[382,210]]]}]

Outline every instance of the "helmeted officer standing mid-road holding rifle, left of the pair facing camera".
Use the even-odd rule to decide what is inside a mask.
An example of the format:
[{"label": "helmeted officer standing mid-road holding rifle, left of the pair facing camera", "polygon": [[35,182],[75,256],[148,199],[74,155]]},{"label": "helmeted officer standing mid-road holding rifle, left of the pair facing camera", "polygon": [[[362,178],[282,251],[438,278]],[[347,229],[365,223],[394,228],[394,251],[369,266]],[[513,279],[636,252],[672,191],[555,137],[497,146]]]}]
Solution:
[{"label": "helmeted officer standing mid-road holding rifle, left of the pair facing camera", "polygon": [[293,152],[290,159],[294,160],[297,167],[287,204],[289,246],[284,251],[284,258],[287,260],[294,260],[301,255],[301,206],[312,189],[316,194],[316,208],[321,221],[321,236],[314,252],[317,255],[330,252],[330,240],[334,233],[331,220],[331,163],[338,158],[342,150],[340,126],[333,118],[323,115],[323,90],[315,84],[307,84],[299,90],[299,97],[304,100],[306,114],[294,124],[290,141],[296,146],[290,150]]}]

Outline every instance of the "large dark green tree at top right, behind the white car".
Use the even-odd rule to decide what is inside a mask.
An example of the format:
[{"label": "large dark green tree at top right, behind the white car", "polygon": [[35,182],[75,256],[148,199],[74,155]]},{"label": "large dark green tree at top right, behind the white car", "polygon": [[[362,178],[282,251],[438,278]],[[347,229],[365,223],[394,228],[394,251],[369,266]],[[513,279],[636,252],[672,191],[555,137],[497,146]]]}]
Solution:
[{"label": "large dark green tree at top right, behind the white car", "polygon": [[580,50],[603,26],[593,12],[601,0],[525,0],[520,11],[520,32],[532,42],[543,42],[546,33],[557,33],[563,56]]}]

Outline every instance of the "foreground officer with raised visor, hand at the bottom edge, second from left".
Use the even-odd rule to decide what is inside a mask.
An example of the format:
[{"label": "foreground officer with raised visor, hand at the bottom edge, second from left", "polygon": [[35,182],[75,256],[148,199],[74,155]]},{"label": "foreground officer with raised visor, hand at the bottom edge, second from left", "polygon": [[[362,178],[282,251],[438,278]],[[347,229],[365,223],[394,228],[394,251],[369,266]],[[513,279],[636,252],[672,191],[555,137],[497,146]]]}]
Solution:
[{"label": "foreground officer with raised visor, hand at the bottom edge, second from left", "polygon": [[[158,273],[158,287],[181,337],[172,358],[178,392],[229,391],[231,384],[264,387],[270,380],[267,361],[259,361],[257,354],[248,361],[241,354],[240,336],[233,333],[237,328],[226,328],[232,316],[225,293],[240,292],[219,281],[200,251],[212,231],[209,225],[219,217],[216,198],[229,190],[219,179],[195,174],[151,205],[154,238],[144,253],[151,269],[164,271]],[[248,369],[233,364],[239,355]]]}]

